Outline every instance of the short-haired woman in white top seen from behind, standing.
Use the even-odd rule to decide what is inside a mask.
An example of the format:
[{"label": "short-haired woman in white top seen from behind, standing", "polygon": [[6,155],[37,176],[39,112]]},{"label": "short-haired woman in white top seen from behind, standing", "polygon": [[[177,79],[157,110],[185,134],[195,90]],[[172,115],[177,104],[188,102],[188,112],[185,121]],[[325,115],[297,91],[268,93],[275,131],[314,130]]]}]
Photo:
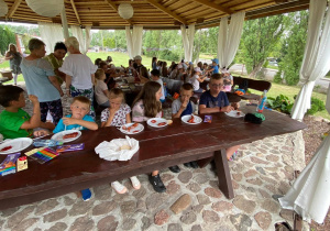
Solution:
[{"label": "short-haired woman in white top seen from behind, standing", "polygon": [[[68,97],[85,96],[92,102],[94,74],[98,67],[91,63],[89,57],[80,53],[79,42],[76,37],[68,37],[65,45],[70,54],[65,58],[59,70],[66,74],[66,94]],[[95,119],[92,105],[88,114]]]}]

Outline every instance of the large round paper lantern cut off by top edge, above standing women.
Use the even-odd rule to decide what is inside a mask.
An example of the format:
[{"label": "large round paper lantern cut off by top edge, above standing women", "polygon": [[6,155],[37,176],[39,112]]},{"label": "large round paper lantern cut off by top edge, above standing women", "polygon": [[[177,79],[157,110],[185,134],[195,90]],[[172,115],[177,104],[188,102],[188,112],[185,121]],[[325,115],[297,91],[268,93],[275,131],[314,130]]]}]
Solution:
[{"label": "large round paper lantern cut off by top edge, above standing women", "polygon": [[28,6],[33,10],[35,13],[42,16],[54,18],[58,15],[64,7],[64,0],[47,0],[47,1],[40,1],[40,0],[25,0]]}]

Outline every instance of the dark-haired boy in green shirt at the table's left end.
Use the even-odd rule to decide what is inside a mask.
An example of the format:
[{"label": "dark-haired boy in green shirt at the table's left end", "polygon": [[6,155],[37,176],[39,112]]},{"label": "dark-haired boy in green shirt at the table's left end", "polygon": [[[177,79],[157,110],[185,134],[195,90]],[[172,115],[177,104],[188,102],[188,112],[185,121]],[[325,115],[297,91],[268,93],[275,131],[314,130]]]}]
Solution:
[{"label": "dark-haired boy in green shirt at the table's left end", "polygon": [[[24,90],[16,86],[0,86],[0,105],[4,110],[0,113],[0,133],[3,139],[31,138],[33,129],[53,130],[55,125],[41,121],[40,102],[36,96],[30,95],[33,105],[32,117],[22,108],[25,107]],[[37,135],[37,134],[35,134]]]}]

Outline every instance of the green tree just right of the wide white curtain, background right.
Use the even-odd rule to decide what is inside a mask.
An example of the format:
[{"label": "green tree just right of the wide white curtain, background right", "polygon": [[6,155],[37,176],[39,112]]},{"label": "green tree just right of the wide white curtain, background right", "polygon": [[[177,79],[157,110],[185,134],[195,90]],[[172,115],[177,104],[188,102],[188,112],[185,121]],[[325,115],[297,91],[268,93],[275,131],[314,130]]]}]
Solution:
[{"label": "green tree just right of the wide white curtain, background right", "polygon": [[284,15],[245,21],[241,43],[248,73],[255,77],[284,32]]}]

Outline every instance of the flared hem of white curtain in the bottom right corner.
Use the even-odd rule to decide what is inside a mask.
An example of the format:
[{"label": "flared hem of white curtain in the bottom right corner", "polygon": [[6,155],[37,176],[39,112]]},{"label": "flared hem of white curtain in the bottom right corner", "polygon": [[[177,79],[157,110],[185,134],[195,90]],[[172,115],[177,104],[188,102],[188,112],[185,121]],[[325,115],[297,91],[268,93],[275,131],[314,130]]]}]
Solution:
[{"label": "flared hem of white curtain in the bottom right corner", "polygon": [[[329,100],[330,94],[328,91]],[[327,109],[330,111],[330,108]],[[278,200],[283,208],[295,210],[309,223],[311,220],[323,223],[330,206],[329,191],[330,135],[324,139],[288,193]]]}]

